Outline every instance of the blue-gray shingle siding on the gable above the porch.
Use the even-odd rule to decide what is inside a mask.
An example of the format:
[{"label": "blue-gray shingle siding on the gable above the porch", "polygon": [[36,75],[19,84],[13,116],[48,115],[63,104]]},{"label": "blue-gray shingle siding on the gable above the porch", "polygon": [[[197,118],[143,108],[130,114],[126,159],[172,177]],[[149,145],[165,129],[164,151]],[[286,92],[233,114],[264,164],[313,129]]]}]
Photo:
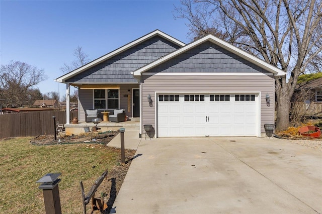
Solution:
[{"label": "blue-gray shingle siding on the gable above the porch", "polygon": [[73,76],[66,82],[137,82],[131,72],[175,51],[179,46],[155,36],[118,55]]}]

